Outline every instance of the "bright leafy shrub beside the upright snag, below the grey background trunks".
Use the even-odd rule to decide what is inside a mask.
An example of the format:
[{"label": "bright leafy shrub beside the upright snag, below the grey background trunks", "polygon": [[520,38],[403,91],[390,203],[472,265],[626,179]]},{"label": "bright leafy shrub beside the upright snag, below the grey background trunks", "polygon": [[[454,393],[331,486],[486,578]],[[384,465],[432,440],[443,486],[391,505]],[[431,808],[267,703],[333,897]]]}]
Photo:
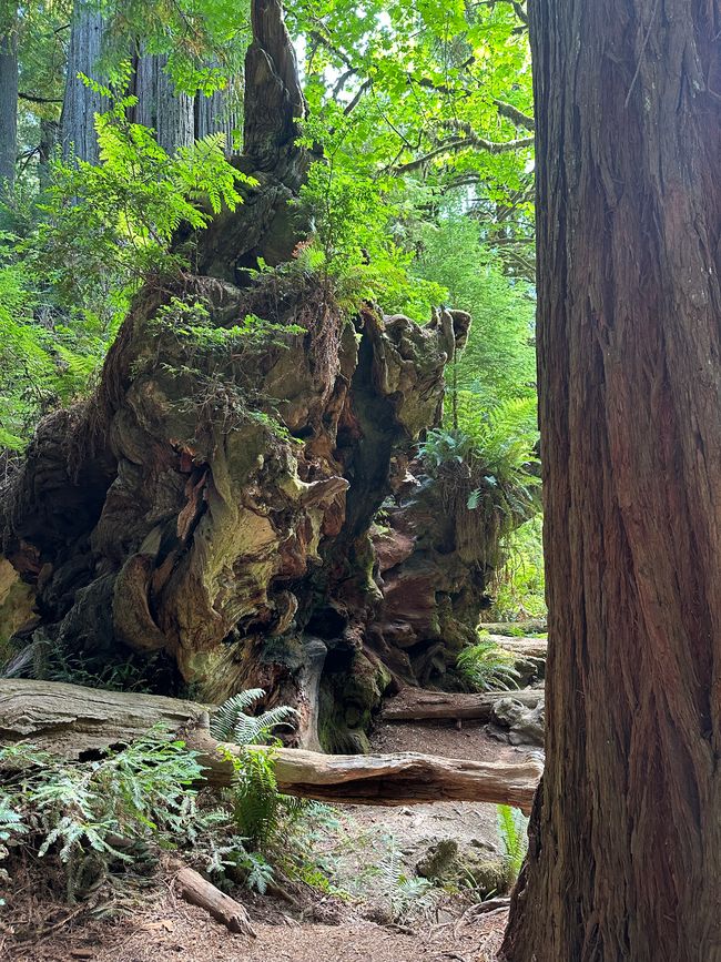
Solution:
[{"label": "bright leafy shrub beside the upright snag, below the grey background trunks", "polygon": [[115,100],[95,81],[84,83],[110,101],[95,118],[100,164],[54,162],[35,242],[70,304],[78,275],[88,296],[109,266],[115,286],[175,270],[174,232],[206,226],[224,204],[234,210],[237,185],[250,182],[225,160],[222,134],[169,154],[149,128],[128,120],[136,98]]}]

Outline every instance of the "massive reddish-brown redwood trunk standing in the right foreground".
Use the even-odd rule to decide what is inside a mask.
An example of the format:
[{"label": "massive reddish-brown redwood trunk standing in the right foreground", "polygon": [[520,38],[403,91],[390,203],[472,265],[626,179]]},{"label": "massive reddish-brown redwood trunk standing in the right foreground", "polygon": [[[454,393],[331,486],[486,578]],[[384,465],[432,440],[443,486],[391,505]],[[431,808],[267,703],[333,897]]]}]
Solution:
[{"label": "massive reddish-brown redwood trunk standing in the right foreground", "polygon": [[721,959],[721,8],[536,0],[547,764],[507,962]]}]

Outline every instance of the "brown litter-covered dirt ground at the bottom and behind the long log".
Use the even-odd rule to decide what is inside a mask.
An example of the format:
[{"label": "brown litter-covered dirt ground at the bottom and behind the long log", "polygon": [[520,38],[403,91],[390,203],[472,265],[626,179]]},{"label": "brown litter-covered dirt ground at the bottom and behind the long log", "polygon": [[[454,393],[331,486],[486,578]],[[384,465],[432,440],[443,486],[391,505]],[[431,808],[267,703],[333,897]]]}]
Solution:
[{"label": "brown litter-covered dirt ground at the bottom and behind the long log", "polygon": [[[423,751],[448,758],[520,760],[484,726],[382,725],[378,751]],[[438,802],[402,808],[337,806],[314,828],[312,844],[332,879],[331,892],[293,884],[260,897],[236,889],[256,938],[233,934],[173,890],[161,872],[112,919],[48,892],[17,891],[0,923],[0,959],[13,962],[492,962],[507,910],[479,912],[479,890],[463,878],[445,887],[418,879],[424,858],[453,843],[461,865],[498,867],[495,806]],[[463,871],[463,870],[461,870]],[[470,874],[469,874],[470,878]],[[122,902],[122,900],[121,900]],[[24,941],[19,941],[19,938]]]}]

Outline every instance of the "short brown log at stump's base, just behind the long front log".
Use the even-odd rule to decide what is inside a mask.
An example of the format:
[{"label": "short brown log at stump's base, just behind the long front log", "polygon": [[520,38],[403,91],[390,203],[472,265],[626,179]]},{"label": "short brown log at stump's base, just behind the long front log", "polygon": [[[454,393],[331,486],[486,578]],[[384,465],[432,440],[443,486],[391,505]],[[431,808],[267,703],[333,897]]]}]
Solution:
[{"label": "short brown log at stump's base, just behind the long front log", "polygon": [[542,695],[542,688],[487,691],[484,695],[404,688],[395,698],[386,702],[380,718],[383,721],[441,721],[444,719],[490,721],[494,707],[501,698],[510,697],[532,708]]}]

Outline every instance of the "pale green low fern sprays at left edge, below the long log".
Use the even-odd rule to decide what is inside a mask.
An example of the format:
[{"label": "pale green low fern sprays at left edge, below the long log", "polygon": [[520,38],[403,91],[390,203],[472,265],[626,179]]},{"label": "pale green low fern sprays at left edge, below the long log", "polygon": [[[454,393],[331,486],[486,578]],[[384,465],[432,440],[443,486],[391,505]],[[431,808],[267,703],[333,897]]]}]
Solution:
[{"label": "pale green low fern sprays at left edge, below the long log", "polygon": [[11,746],[0,749],[0,838],[8,843],[0,854],[37,843],[39,858],[58,859],[71,899],[89,874],[133,861],[126,841],[172,847],[197,828],[197,753],[160,728],[97,761],[73,763]]}]

